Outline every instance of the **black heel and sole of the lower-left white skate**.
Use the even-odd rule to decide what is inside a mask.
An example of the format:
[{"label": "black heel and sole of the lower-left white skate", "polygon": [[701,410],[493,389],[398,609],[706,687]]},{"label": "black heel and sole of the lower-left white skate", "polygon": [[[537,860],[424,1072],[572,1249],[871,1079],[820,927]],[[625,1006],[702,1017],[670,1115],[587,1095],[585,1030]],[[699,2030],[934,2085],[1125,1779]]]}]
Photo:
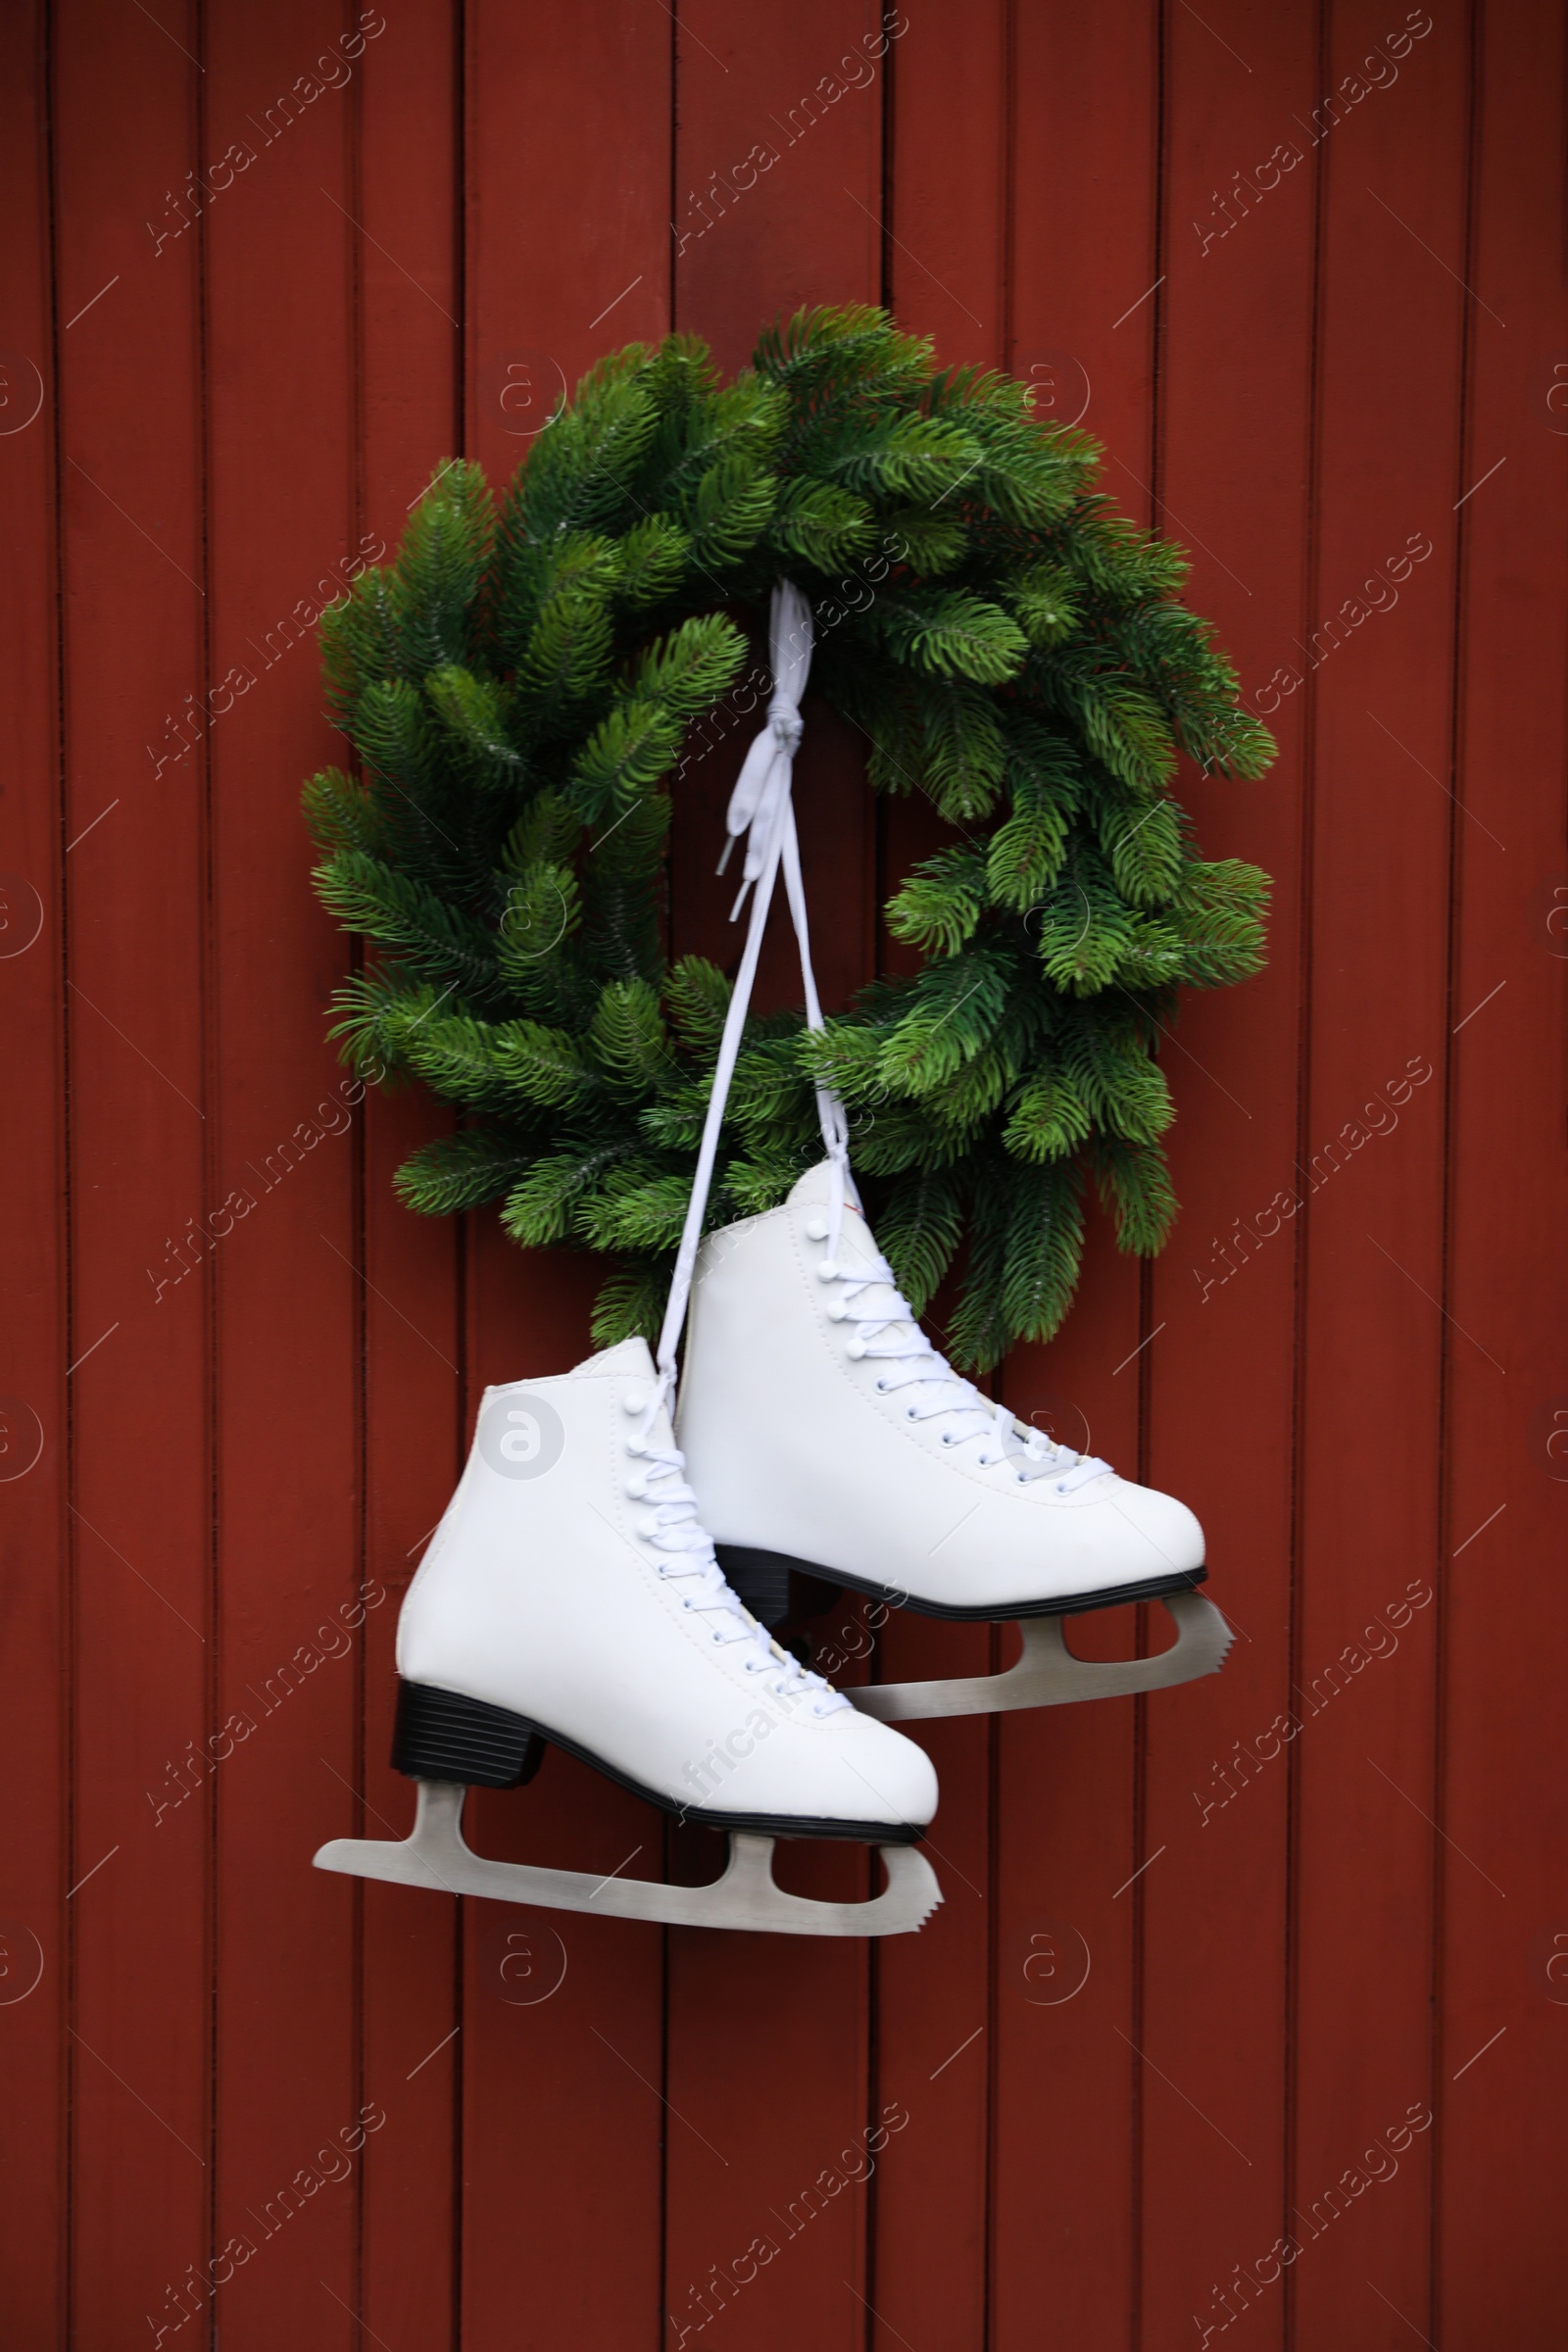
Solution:
[{"label": "black heel and sole of the lower-left white skate", "polygon": [[679,1804],[656,1788],[644,1788],[630,1773],[597,1757],[592,1748],[562,1738],[548,1724],[534,1724],[510,1708],[494,1708],[463,1691],[437,1691],[428,1682],[397,1684],[397,1719],[393,1726],[393,1769],[409,1780],[458,1780],[465,1788],[522,1788],[543,1762],[545,1748],[559,1748],[616,1788],[656,1804],[661,1813],[693,1820],[703,1830],[745,1830],[752,1837],[853,1837],[865,1846],[917,1846],[926,1835],[907,1820],[813,1820],[795,1813],[717,1813],[701,1804]]}]

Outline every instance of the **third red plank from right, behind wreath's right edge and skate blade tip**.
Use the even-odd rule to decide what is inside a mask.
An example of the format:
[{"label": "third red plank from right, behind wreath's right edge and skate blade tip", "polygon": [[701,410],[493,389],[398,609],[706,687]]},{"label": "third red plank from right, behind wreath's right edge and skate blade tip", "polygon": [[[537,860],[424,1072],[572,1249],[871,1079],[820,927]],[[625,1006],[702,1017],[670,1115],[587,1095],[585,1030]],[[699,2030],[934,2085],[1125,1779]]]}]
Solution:
[{"label": "third red plank from right, behind wreath's right edge and skate blade tip", "polygon": [[[1309,14],[1265,21],[1232,7],[1171,24],[1161,520],[1190,548],[1192,600],[1213,614],[1248,687],[1316,619],[1302,463],[1314,167],[1302,158],[1281,174],[1274,160],[1276,186],[1246,214],[1232,202],[1229,230],[1213,191],[1237,169],[1253,179],[1295,136],[1316,71]],[[1161,2347],[1190,2343],[1194,2314],[1201,2326],[1225,2319],[1215,2281],[1267,2258],[1288,2204],[1293,1748],[1272,1726],[1295,1705],[1291,1486],[1279,1475],[1295,1409],[1295,1225],[1262,1211],[1298,1185],[1302,696],[1274,727],[1279,760],[1262,783],[1185,767],[1180,786],[1204,851],[1260,863],[1274,901],[1269,969],[1246,988],[1194,995],[1164,1049],[1182,1209],[1152,1277],[1150,1472],[1199,1512],[1211,1592],[1237,1642],[1220,1677],[1145,1710],[1143,2293],[1147,2340]],[[1237,1218],[1274,1237],[1244,1240],[1246,1256],[1232,1242],[1227,1275],[1215,1242]],[[1251,1764],[1234,1762],[1234,1743]],[[1284,2296],[1258,2296],[1248,2326],[1279,2343]]]}]

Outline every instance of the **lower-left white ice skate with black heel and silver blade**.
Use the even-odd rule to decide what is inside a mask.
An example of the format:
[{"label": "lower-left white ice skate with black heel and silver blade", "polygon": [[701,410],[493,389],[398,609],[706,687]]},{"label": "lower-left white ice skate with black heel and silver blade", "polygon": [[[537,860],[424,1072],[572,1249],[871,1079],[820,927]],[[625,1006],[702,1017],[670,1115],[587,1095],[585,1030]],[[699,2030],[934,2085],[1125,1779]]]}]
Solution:
[{"label": "lower-left white ice skate with black heel and silver blade", "polygon": [[[393,1762],[418,1780],[402,1844],[339,1839],[324,1870],[508,1903],[698,1926],[884,1936],[940,1900],[912,1851],[936,1811],[926,1755],[858,1715],[745,1613],[715,1562],[644,1341],[559,1378],[491,1388],[463,1479],[397,1625]],[[712,1886],[489,1863],[465,1788],[515,1788],[550,1743],[684,1820],[731,1832]],[[870,1903],[771,1877],[776,1837],[884,1849]]]}]

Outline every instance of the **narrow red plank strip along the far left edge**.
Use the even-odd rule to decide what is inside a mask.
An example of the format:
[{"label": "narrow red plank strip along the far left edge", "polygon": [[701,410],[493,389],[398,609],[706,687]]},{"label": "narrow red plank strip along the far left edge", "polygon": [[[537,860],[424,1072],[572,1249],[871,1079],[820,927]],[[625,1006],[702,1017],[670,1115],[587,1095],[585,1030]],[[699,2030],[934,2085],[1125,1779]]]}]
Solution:
[{"label": "narrow red plank strip along the far left edge", "polygon": [[56,734],[54,501],[59,461],[47,390],[52,275],[42,9],[0,26],[0,188],[12,223],[0,254],[7,353],[0,407],[0,515],[12,604],[0,633],[0,1068],[12,1134],[0,1183],[0,1592],[14,1705],[0,1715],[0,1769],[19,1795],[0,1853],[0,2277],[19,2340],[56,2343],[66,2321],[68,2211],[68,1642],[66,1512],[66,1134],[63,891]]}]

